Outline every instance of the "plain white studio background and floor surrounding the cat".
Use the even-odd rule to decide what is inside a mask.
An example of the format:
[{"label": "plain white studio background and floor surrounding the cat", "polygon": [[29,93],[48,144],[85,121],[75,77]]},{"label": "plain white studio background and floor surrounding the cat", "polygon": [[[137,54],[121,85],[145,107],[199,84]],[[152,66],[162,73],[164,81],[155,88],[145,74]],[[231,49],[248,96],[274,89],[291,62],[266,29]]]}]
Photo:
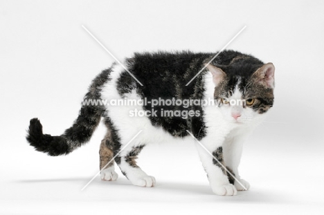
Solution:
[{"label": "plain white studio background and floor surrounding the cat", "polygon": [[[320,214],[323,212],[324,1],[0,1],[0,214]],[[193,142],[153,145],[139,164],[154,188],[100,178],[102,125],[69,156],[25,140],[30,118],[60,135],[93,77],[143,50],[228,48],[276,66],[276,100],[246,142],[251,190],[213,195]]]}]

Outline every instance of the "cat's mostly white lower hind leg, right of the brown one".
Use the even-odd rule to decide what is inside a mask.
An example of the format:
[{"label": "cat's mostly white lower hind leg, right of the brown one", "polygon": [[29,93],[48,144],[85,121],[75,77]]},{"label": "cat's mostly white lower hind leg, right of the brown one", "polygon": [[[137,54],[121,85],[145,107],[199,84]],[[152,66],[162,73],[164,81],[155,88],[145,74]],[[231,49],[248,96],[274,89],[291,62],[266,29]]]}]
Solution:
[{"label": "cat's mostly white lower hind leg, right of the brown one", "polygon": [[131,149],[125,149],[115,160],[122,173],[131,181],[133,185],[140,187],[154,187],[155,178],[148,176],[136,164],[138,153],[141,152],[145,145],[141,144]]}]

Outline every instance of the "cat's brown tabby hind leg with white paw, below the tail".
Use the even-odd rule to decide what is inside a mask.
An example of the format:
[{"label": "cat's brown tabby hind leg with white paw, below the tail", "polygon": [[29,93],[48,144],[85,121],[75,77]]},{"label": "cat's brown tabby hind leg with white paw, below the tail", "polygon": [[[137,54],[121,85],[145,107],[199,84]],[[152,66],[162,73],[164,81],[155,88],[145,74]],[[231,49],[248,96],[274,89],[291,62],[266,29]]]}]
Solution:
[{"label": "cat's brown tabby hind leg with white paw, below the tail", "polygon": [[100,144],[100,175],[102,180],[117,180],[118,174],[115,171],[114,166],[114,152],[112,150],[112,144],[109,140],[109,135],[101,141]]}]

